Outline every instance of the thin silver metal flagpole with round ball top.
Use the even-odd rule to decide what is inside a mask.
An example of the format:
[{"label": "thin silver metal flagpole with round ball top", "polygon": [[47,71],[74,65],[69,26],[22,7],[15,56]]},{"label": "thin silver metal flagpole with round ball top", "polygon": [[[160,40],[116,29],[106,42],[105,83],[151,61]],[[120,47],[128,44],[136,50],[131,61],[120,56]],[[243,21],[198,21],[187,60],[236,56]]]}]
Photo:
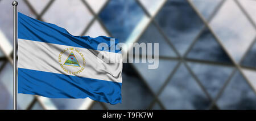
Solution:
[{"label": "thin silver metal flagpole with round ball top", "polygon": [[13,1],[13,110],[17,109],[17,72],[16,72],[16,42],[17,42],[17,6],[18,2]]}]

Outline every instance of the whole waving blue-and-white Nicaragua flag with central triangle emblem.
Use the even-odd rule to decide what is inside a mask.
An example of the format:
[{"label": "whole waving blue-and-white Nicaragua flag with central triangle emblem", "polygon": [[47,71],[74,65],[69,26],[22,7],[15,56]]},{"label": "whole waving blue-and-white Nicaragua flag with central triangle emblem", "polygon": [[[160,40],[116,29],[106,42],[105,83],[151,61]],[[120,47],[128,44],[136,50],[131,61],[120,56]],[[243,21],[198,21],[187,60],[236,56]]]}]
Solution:
[{"label": "whole waving blue-and-white Nicaragua flag with central triangle emblem", "polygon": [[[18,93],[121,103],[122,54],[118,40],[72,36],[64,28],[18,13]],[[98,44],[105,47],[98,49]],[[107,48],[107,49],[106,49]],[[105,59],[115,58],[114,63]]]}]

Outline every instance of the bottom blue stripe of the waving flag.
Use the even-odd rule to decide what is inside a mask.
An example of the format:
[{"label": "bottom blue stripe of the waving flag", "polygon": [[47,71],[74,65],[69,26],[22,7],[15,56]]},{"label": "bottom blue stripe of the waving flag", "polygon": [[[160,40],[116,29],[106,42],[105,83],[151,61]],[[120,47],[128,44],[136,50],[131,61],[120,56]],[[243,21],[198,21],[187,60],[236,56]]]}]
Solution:
[{"label": "bottom blue stripe of the waving flag", "polygon": [[18,93],[121,103],[122,83],[18,68]]}]

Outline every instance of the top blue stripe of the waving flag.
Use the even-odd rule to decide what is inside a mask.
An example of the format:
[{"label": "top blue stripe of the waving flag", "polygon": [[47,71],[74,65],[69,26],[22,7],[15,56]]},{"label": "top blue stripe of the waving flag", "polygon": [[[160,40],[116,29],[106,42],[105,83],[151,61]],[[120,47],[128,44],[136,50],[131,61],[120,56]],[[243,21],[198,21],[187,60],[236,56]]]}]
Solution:
[{"label": "top blue stripe of the waving flag", "polygon": [[[73,36],[64,28],[58,27],[55,24],[30,18],[20,12],[18,12],[18,38],[47,42],[51,44],[84,47],[93,50],[98,50],[98,44],[104,42],[108,44],[108,51],[110,51],[111,46],[114,48],[114,46],[118,44],[118,40],[115,39],[115,42],[110,45],[110,37],[105,36],[99,36],[96,38],[89,36]],[[115,50],[115,53],[121,53],[121,51]]]}]

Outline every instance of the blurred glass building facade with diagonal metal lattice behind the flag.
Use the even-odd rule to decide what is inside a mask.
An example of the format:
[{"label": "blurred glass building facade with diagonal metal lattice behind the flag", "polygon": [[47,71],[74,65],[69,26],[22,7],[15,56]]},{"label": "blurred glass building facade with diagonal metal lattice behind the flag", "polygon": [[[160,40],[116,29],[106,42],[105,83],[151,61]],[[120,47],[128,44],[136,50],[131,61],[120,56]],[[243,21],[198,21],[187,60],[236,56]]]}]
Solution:
[{"label": "blurred glass building facade with diagonal metal lattice behind the flag", "polygon": [[[13,6],[0,0],[0,109],[13,109]],[[256,109],[255,0],[18,0],[74,36],[158,42],[159,67],[123,63],[122,103],[18,94],[18,109]]]}]

